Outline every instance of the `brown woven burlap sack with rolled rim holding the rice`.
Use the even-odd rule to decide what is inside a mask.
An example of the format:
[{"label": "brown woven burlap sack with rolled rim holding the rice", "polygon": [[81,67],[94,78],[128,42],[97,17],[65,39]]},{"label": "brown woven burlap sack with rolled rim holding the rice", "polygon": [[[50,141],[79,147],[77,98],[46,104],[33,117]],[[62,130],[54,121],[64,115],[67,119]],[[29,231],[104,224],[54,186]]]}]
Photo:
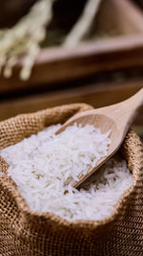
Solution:
[{"label": "brown woven burlap sack with rolled rim holding the rice", "polygon": [[[24,114],[0,123],[0,149],[51,124],[63,123],[89,105],[64,105]],[[1,256],[143,255],[143,147],[130,131],[122,151],[133,172],[133,185],[103,221],[65,221],[54,214],[32,213],[7,176],[0,159]]]}]

